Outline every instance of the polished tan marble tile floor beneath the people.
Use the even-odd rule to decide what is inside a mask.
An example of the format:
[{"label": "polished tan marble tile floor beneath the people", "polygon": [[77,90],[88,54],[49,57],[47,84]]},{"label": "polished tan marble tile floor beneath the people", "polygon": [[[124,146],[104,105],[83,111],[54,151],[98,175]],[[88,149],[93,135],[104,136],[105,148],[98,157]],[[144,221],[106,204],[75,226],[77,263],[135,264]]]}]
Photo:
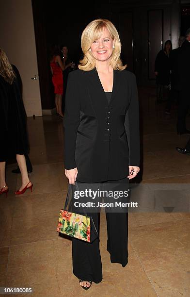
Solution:
[{"label": "polished tan marble tile floor beneath the people", "polygon": [[[153,87],[139,89],[142,133],[141,183],[190,183],[190,156],[181,155],[189,136],[175,131],[176,105],[164,114]],[[190,116],[187,118],[190,128]],[[0,197],[0,286],[32,287],[35,297],[190,296],[190,214],[129,213],[128,264],[112,264],[101,214],[103,281],[88,291],[72,273],[71,241],[58,236],[59,210],[67,193],[63,127],[56,116],[28,118],[33,192],[16,197],[20,175],[7,165],[7,198]],[[104,227],[103,227],[104,226]],[[17,295],[13,295],[17,296]],[[27,295],[19,295],[27,296]]]}]

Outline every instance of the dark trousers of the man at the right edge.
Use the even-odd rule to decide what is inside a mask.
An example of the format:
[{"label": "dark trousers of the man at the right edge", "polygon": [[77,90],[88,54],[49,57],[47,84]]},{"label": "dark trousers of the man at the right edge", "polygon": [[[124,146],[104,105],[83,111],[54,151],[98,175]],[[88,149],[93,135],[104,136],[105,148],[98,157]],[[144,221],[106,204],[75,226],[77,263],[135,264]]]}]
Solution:
[{"label": "dark trousers of the man at the right edge", "polygon": [[181,90],[179,93],[177,132],[186,130],[186,115],[190,107],[190,94],[188,90]]}]

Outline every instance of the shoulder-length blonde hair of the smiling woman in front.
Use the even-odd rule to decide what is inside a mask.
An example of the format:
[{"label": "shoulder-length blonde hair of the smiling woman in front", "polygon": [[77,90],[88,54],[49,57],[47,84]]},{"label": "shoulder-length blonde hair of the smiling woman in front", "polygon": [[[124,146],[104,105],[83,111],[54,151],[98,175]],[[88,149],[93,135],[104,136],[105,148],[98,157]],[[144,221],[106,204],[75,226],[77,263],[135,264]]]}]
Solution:
[{"label": "shoulder-length blonde hair of the smiling woman in front", "polygon": [[124,70],[127,67],[127,65],[123,66],[123,63],[120,59],[121,41],[115,26],[108,19],[98,18],[90,22],[82,32],[81,48],[84,57],[82,60],[79,61],[79,69],[89,71],[95,68],[95,58],[89,52],[89,49],[93,41],[101,36],[104,28],[108,29],[111,38],[114,40],[115,46],[111,55],[110,65],[113,67],[113,69],[118,70]]}]

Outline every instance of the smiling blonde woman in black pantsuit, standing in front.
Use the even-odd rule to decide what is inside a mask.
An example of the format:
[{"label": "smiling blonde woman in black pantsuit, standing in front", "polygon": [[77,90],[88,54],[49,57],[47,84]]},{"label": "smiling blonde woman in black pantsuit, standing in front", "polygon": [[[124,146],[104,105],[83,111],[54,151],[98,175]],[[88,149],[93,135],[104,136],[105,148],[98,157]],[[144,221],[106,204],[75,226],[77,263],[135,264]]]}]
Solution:
[{"label": "smiling blonde woman in black pantsuit, standing in front", "polygon": [[[81,36],[84,54],[68,76],[64,117],[64,164],[69,183],[125,183],[139,172],[139,103],[135,75],[124,71],[114,25],[96,19]],[[99,213],[93,217],[99,232]],[[127,214],[106,213],[112,263],[127,265]],[[115,221],[120,220],[121,230]],[[117,233],[117,237],[114,238]],[[89,289],[102,280],[99,239],[72,240],[73,272]]]}]

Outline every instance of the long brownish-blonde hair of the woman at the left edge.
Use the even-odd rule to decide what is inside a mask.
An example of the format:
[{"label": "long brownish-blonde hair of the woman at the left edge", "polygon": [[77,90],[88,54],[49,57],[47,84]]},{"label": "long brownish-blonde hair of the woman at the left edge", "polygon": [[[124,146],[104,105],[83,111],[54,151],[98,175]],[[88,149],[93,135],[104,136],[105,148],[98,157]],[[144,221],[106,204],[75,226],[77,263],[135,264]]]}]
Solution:
[{"label": "long brownish-blonde hair of the woman at the left edge", "polygon": [[16,78],[15,72],[2,48],[0,48],[0,76],[9,84],[12,84]]}]

